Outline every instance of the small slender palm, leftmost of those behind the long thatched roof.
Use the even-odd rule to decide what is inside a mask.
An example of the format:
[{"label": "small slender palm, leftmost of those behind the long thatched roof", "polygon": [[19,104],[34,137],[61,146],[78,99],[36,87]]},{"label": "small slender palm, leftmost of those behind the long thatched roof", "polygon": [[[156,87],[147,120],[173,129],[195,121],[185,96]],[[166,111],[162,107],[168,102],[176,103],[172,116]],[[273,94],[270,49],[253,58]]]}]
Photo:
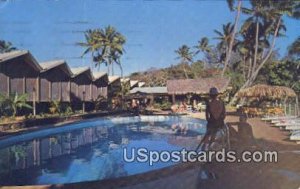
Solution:
[{"label": "small slender palm, leftmost of those behind the long thatched roof", "polygon": [[182,45],[175,51],[175,53],[178,55],[177,58],[181,60],[185,78],[188,79],[189,77],[186,71],[186,65],[193,61],[193,53],[190,52],[190,48],[187,45]]}]

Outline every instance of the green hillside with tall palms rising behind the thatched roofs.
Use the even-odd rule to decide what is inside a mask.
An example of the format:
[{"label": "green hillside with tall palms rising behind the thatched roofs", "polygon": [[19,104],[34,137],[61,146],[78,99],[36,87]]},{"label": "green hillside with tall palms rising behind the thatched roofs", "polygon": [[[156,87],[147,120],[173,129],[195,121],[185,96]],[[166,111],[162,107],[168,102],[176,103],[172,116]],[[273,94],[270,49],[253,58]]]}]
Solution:
[{"label": "green hillside with tall palms rising behind the thatched roofs", "polygon": [[284,55],[279,54],[276,43],[288,30],[286,18],[300,18],[300,4],[228,1],[228,5],[235,12],[234,23],[216,28],[212,31],[214,38],[203,36],[192,46],[183,44],[174,50],[176,65],[133,73],[130,78],[144,81],[147,86],[162,86],[168,79],[219,76],[231,79],[232,95],[256,83],[288,86],[299,93],[300,37]]}]

